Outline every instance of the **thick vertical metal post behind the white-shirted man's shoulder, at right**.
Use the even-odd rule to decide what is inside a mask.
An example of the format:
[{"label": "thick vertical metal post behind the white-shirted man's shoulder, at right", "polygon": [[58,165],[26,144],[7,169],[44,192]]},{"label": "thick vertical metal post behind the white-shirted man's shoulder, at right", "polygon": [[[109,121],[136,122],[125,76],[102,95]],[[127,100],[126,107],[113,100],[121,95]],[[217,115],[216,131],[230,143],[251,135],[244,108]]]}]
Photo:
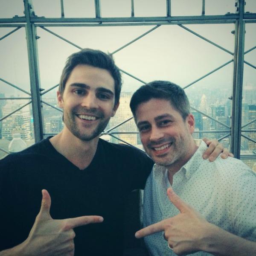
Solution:
[{"label": "thick vertical metal post behind the white-shirted man's shoulder, at right", "polygon": [[242,87],[244,73],[244,34],[245,22],[244,0],[237,0],[236,6],[239,12],[239,20],[235,24],[235,51],[233,71],[233,105],[231,126],[231,152],[240,158],[241,148],[241,112],[242,112]]}]

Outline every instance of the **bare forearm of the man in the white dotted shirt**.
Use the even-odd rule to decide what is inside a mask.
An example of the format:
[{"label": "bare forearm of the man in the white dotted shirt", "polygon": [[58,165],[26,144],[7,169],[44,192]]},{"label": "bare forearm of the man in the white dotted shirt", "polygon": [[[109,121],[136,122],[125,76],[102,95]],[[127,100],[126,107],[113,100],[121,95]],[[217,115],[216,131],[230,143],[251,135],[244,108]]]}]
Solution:
[{"label": "bare forearm of the man in the white dotted shirt", "polygon": [[212,225],[202,249],[216,256],[256,255],[256,242],[243,239]]}]

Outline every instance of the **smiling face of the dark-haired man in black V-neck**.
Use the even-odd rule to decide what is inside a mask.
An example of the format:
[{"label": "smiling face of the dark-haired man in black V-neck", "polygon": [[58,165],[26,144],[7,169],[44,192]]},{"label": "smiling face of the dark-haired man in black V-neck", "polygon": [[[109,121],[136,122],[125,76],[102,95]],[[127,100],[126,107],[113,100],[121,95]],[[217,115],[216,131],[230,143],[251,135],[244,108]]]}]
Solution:
[{"label": "smiling face of the dark-haired man in black V-neck", "polygon": [[80,140],[98,137],[114,116],[114,80],[108,70],[78,65],[70,73],[63,95],[58,92],[64,123]]}]

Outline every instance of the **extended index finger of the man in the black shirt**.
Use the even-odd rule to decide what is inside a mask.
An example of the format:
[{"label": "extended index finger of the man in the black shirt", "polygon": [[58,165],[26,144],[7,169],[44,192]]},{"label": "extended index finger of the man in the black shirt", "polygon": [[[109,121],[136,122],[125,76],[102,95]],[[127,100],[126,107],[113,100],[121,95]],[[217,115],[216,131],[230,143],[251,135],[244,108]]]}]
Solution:
[{"label": "extended index finger of the man in the black shirt", "polygon": [[73,229],[74,227],[84,226],[91,223],[100,223],[103,221],[103,218],[101,216],[81,216],[76,218],[68,218],[65,219],[66,225],[65,229]]}]

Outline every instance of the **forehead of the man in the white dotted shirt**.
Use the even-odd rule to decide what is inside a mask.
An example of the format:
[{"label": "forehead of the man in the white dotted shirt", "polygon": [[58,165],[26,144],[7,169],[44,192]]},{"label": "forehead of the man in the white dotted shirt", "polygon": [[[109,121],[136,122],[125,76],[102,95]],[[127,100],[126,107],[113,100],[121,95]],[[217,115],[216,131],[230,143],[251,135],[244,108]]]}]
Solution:
[{"label": "forehead of the man in the white dotted shirt", "polygon": [[150,99],[138,105],[136,122],[154,122],[160,116],[173,116],[182,118],[180,113],[173,108],[171,102],[165,99]]}]

